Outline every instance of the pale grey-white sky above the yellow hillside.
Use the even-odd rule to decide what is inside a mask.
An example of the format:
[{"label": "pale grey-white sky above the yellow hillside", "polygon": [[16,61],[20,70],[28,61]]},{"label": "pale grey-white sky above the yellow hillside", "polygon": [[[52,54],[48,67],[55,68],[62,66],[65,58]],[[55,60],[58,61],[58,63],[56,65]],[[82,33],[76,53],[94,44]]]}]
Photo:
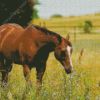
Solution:
[{"label": "pale grey-white sky above the yellow hillside", "polygon": [[100,0],[39,0],[36,5],[40,18],[50,18],[54,14],[64,17],[94,14],[100,12]]}]

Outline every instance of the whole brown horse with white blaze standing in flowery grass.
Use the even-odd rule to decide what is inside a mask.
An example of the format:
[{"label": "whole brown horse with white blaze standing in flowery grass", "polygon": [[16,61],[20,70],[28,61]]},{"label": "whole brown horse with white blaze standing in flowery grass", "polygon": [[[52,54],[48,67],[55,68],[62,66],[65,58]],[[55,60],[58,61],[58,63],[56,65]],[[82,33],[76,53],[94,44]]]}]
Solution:
[{"label": "whole brown horse with white blaze standing in flowery grass", "polygon": [[[73,70],[71,62],[72,45],[69,35],[66,39],[37,25],[23,29],[17,24],[4,24],[0,27],[0,71],[2,82],[7,82],[12,63],[23,65],[26,77],[32,67],[36,67],[37,83],[42,84],[49,53],[54,51],[55,58],[69,74]],[[5,61],[6,62],[5,62]],[[28,81],[29,78],[26,80]]]}]

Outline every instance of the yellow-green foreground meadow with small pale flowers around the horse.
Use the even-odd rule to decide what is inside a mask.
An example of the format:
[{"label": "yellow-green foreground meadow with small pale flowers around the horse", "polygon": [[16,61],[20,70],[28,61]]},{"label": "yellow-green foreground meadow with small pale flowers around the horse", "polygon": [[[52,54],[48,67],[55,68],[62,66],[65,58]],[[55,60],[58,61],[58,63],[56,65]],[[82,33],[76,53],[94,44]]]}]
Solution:
[{"label": "yellow-green foreground meadow with small pale flowers around the horse", "polygon": [[[65,33],[59,34],[66,37]],[[53,52],[50,53],[40,95],[36,97],[36,71],[32,69],[33,86],[27,90],[26,100],[100,100],[100,34],[77,34],[76,42],[74,34],[70,34],[70,41],[74,72],[66,74]],[[79,63],[82,48],[84,52]],[[7,89],[0,87],[0,100],[21,100],[25,86],[22,66],[13,65]]]}]

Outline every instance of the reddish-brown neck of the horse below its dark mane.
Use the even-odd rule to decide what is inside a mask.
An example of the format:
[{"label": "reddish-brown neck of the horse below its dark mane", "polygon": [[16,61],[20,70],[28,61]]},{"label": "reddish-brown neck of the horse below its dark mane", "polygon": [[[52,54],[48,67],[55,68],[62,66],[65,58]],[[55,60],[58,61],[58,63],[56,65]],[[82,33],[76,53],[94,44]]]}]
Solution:
[{"label": "reddish-brown neck of the horse below its dark mane", "polygon": [[39,29],[36,29],[35,27],[28,27],[28,28],[26,28],[26,30],[28,33],[32,33],[32,34],[30,34],[32,40],[36,40],[37,45],[40,48],[42,46],[47,46],[50,49],[50,51],[54,51],[55,47],[58,46],[60,43],[59,38],[61,38],[61,37],[58,34],[44,32]]}]

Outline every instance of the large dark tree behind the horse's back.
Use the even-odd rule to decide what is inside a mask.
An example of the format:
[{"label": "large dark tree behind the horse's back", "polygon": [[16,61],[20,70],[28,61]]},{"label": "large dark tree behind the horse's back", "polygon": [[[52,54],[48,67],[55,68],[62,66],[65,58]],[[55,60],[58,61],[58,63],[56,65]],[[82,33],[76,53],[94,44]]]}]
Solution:
[{"label": "large dark tree behind the horse's back", "polygon": [[33,18],[33,6],[38,0],[0,0],[0,25],[17,23],[27,26]]}]

